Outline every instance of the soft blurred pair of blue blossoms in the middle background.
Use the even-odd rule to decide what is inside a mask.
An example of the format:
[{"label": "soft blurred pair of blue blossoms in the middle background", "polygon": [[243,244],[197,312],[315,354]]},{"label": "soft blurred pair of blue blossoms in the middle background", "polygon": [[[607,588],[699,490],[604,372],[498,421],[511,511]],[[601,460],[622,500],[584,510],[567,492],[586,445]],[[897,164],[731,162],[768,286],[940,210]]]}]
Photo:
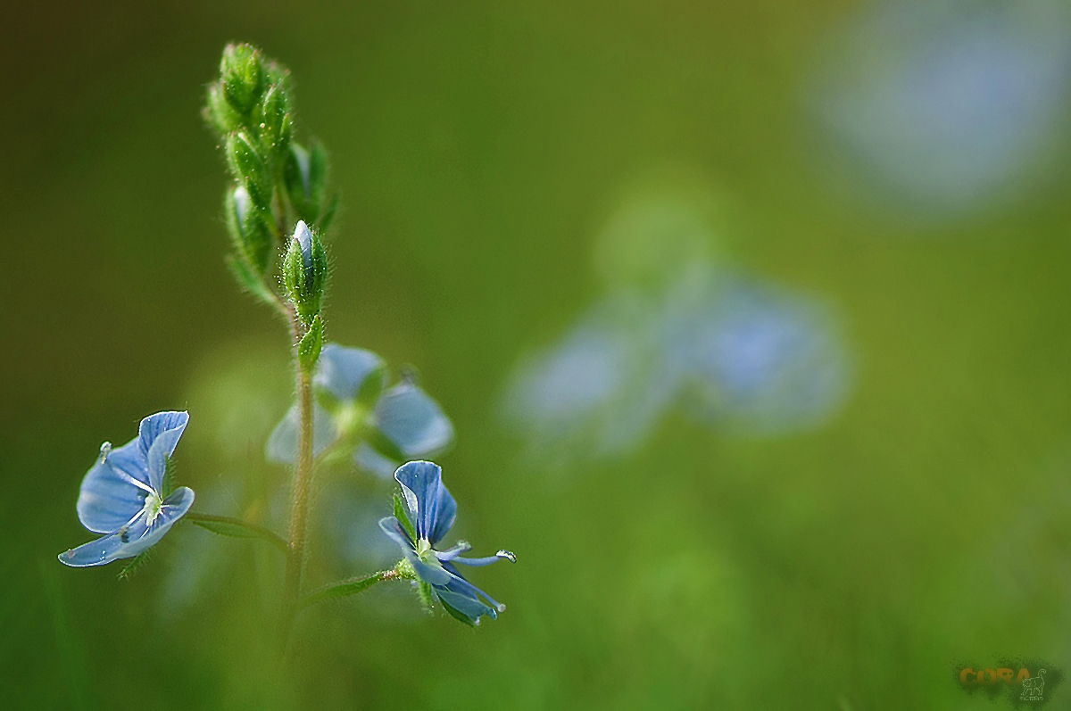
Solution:
[{"label": "soft blurred pair of blue blossoms in the middle background", "polygon": [[673,407],[720,429],[770,434],[843,402],[848,358],[824,309],[726,269],[660,292],[618,290],[517,368],[503,413],[541,462],[627,454]]}]

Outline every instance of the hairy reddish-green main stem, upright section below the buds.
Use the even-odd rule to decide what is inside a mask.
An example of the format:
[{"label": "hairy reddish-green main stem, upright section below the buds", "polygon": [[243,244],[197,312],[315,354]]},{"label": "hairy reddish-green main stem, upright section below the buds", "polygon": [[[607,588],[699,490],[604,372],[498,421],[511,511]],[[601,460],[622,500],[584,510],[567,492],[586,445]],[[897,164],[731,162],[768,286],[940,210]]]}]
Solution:
[{"label": "hairy reddish-green main stem, upright section below the buds", "polygon": [[[297,326],[296,326],[297,330]],[[297,358],[295,358],[297,361]],[[286,560],[283,587],[284,630],[289,631],[301,594],[305,566],[305,528],[308,517],[308,490],[313,478],[313,385],[312,376],[298,369],[298,466],[293,475],[293,509],[290,512],[290,555]]]}]

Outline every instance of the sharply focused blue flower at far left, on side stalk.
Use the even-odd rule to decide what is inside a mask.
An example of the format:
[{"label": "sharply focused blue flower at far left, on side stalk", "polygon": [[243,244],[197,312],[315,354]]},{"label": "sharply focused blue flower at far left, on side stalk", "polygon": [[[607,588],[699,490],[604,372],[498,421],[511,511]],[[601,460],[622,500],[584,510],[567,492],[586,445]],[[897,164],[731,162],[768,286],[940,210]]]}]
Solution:
[{"label": "sharply focused blue flower at far left, on side stalk", "polygon": [[133,558],[153,546],[194,502],[193,489],[164,490],[167,458],[186,428],[185,412],[157,412],[141,421],[138,436],[119,449],[105,442],[101,457],[81,480],[78,520],[107,535],[61,553],[75,568]]}]

